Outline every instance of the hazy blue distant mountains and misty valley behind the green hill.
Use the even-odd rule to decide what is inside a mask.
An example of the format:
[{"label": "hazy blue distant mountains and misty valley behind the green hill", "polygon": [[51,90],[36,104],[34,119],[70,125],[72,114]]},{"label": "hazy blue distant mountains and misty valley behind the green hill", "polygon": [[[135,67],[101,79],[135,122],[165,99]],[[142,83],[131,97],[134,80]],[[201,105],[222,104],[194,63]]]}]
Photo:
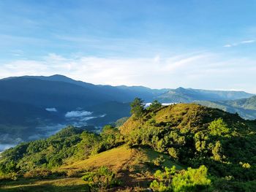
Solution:
[{"label": "hazy blue distant mountains and misty valley behind the green hill", "polygon": [[[244,91],[93,85],[59,74],[8,77],[0,80],[0,90],[0,145],[4,147],[48,137],[68,124],[97,131],[105,124],[129,116],[129,102],[135,97],[146,102],[200,101],[200,104],[215,104],[213,107],[226,106],[224,110],[238,112],[245,118],[256,118],[255,97]],[[242,100],[230,101],[234,99]]]}]

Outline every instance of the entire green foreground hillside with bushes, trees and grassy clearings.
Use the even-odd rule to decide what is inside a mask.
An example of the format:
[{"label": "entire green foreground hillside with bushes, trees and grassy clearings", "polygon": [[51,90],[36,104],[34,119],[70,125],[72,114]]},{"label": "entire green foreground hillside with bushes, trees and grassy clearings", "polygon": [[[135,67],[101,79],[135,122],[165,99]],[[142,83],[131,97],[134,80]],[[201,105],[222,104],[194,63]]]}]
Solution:
[{"label": "entire green foreground hillside with bushes, trees and grassy clearings", "polygon": [[[105,183],[106,191],[157,191],[165,185],[157,175],[170,172],[170,188],[180,191],[182,182],[176,180],[187,174],[192,179],[198,171],[188,191],[255,191],[255,121],[198,104],[151,109],[140,118],[132,115],[120,128],[105,126],[101,134],[68,127],[6,150],[0,158],[1,177],[18,180],[1,180],[1,190],[83,191],[98,188],[97,180],[109,175],[113,185]],[[98,175],[94,185],[88,180],[92,175]],[[37,182],[29,184],[32,179]]]}]

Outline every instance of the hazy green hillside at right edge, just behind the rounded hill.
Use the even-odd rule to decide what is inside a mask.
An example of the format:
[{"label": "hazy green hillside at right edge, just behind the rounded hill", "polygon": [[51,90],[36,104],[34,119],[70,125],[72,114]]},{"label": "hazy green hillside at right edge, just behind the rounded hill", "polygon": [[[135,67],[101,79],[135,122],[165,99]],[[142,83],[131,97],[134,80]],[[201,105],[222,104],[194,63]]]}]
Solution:
[{"label": "hazy green hillside at right edge, just behind the rounded hill", "polygon": [[217,108],[226,112],[238,113],[242,118],[256,119],[256,96],[246,99],[236,99],[228,101],[196,101],[206,107]]}]

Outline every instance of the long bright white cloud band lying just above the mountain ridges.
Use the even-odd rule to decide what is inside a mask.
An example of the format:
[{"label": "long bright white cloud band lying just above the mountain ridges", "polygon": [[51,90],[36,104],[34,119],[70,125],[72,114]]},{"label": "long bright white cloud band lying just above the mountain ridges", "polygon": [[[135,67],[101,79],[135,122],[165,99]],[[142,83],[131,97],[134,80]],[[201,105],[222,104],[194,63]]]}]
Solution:
[{"label": "long bright white cloud band lying just above the mountain ridges", "polygon": [[[231,59],[232,58],[232,59]],[[150,88],[237,88],[255,91],[256,61],[217,53],[148,58],[65,58],[50,54],[40,61],[17,60],[1,65],[0,78],[64,74],[94,84],[144,85]]]}]

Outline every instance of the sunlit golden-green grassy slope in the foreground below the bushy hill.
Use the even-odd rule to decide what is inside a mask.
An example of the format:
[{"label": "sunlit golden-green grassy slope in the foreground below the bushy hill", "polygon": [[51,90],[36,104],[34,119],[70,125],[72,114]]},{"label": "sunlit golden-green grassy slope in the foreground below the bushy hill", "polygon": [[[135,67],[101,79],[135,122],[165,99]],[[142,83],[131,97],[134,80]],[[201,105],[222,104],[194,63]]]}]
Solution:
[{"label": "sunlit golden-green grassy slope in the foreground below the bushy hill", "polygon": [[[148,148],[131,149],[123,145],[93,155],[83,161],[67,162],[66,165],[59,168],[59,171],[72,172],[71,177],[20,178],[16,181],[1,181],[0,191],[84,191],[85,183],[81,180],[81,175],[86,170],[92,170],[99,166],[108,166],[113,172],[116,172],[118,179],[125,183],[127,188],[146,186],[157,169],[151,165],[151,161],[159,155],[162,154]],[[175,165],[177,169],[184,169],[184,166],[174,163],[167,155],[164,155],[164,158],[164,166]],[[125,191],[126,189],[118,190]]]}]

